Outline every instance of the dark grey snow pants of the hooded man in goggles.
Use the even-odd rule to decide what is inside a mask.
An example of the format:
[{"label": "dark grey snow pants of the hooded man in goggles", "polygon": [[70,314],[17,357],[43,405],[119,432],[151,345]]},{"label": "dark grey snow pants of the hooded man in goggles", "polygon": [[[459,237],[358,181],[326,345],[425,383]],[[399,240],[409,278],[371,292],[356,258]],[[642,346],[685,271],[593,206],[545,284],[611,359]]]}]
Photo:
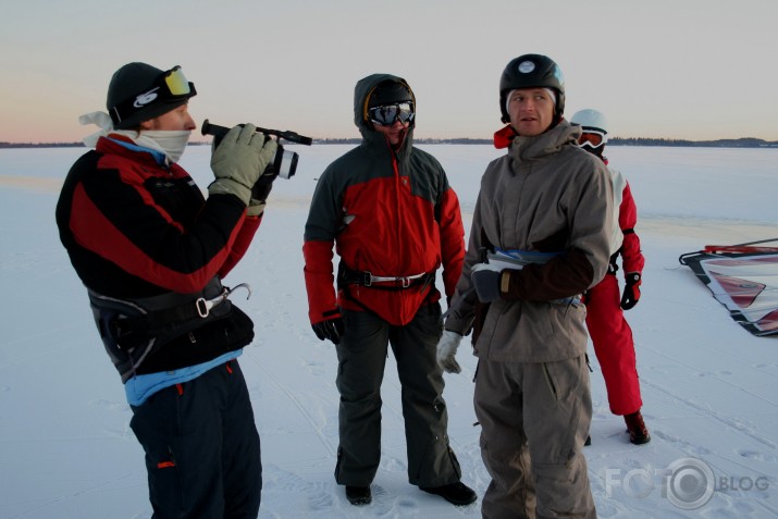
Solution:
[{"label": "dark grey snow pants of the hooded man in goggles", "polygon": [[344,321],[345,333],[336,347],[337,483],[368,486],[375,477],[381,461],[381,383],[390,344],[402,384],[409,483],[441,486],[459,481],[459,461],[448,446],[443,372],[435,359],[443,330],[441,306],[422,306],[405,326],[391,325],[369,311],[346,311]]}]

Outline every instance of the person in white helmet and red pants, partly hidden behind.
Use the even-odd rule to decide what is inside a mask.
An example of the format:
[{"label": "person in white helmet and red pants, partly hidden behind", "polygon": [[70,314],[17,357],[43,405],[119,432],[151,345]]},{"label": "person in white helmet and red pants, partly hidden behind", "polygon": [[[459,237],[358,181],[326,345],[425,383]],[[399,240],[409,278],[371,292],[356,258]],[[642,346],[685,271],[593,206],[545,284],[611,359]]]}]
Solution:
[{"label": "person in white helmet and red pants, partly hidden behind", "polygon": [[[581,148],[600,157],[607,164],[608,160],[603,155],[608,140],[605,115],[597,110],[585,109],[576,112],[570,122],[580,125],[583,131],[578,140]],[[608,171],[614,182],[615,198],[610,267],[603,281],[586,292],[586,328],[603,370],[610,412],[623,416],[629,441],[641,445],[649,443],[651,435],[640,412],[643,400],[640,397],[634,341],[623,310],[631,309],[640,300],[645,259],[640,250],[640,238],[634,232],[638,208],[632,199],[632,191],[618,170],[608,165]],[[619,256],[625,277],[623,294],[620,297],[616,280],[616,261]]]}]

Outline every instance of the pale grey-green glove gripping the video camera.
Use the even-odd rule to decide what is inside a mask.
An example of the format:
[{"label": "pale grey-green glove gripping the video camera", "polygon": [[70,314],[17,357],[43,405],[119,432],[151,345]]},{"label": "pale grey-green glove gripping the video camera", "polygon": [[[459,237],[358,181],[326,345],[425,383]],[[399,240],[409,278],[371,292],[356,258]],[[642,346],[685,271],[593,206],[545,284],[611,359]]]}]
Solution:
[{"label": "pale grey-green glove gripping the video camera", "polygon": [[208,186],[210,195],[235,195],[248,206],[251,187],[275,157],[277,144],[246,124],[230,129],[211,156],[211,170],[217,177]]}]

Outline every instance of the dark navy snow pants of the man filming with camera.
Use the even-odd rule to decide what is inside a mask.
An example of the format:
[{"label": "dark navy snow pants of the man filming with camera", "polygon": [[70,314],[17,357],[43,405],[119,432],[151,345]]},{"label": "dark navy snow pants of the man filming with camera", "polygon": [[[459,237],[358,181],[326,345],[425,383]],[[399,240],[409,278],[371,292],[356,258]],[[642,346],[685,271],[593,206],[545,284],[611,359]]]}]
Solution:
[{"label": "dark navy snow pants of the man filming with camera", "polygon": [[133,406],[155,519],[256,519],[259,434],[236,360]]}]

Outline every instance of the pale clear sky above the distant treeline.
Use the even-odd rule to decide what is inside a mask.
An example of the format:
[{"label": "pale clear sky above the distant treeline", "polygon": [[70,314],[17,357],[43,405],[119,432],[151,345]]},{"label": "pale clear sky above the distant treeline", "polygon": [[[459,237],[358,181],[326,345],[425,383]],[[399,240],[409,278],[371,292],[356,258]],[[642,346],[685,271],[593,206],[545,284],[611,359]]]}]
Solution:
[{"label": "pale clear sky above the distant treeline", "polygon": [[[777,0],[25,0],[0,15],[0,141],[97,131],[111,75],[181,65],[189,111],[314,138],[358,137],[354,86],[405,77],[417,137],[491,138],[505,65],[555,60],[569,118],[617,137],[778,140]],[[199,137],[199,131],[197,133]]]}]

